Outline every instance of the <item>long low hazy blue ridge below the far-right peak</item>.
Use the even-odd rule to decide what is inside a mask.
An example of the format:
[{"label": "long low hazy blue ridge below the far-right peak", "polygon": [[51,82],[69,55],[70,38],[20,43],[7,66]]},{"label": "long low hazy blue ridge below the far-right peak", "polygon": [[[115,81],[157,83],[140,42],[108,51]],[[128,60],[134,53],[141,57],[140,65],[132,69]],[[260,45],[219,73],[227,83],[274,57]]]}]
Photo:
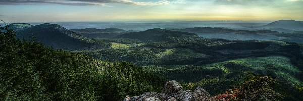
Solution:
[{"label": "long low hazy blue ridge below the far-right peak", "polygon": [[283,40],[288,42],[303,43],[303,37],[300,34],[303,32],[282,28],[264,28],[261,30],[234,30],[228,28],[195,27],[170,30],[196,33],[197,35],[205,38],[222,38],[229,40]]}]

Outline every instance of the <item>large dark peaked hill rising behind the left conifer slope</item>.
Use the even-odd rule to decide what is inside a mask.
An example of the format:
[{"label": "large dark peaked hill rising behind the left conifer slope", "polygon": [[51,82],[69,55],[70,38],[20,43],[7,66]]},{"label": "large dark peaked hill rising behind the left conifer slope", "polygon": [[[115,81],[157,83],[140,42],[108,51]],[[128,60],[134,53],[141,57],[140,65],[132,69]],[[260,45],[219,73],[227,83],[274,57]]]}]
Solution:
[{"label": "large dark peaked hill rising behind the left conifer slope", "polygon": [[44,23],[32,26],[26,23],[15,23],[11,24],[10,28],[16,31],[18,38],[30,39],[34,36],[42,43],[56,49],[74,50],[101,46],[95,40],[83,37],[57,24]]}]

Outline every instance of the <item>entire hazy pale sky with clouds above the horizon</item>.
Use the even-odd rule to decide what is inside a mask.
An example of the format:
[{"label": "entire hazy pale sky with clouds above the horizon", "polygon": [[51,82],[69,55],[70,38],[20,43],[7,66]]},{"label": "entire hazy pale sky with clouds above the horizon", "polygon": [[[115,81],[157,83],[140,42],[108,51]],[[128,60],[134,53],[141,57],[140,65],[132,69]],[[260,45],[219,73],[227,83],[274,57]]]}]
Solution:
[{"label": "entire hazy pale sky with clouds above the horizon", "polygon": [[303,20],[303,0],[0,0],[7,22]]}]

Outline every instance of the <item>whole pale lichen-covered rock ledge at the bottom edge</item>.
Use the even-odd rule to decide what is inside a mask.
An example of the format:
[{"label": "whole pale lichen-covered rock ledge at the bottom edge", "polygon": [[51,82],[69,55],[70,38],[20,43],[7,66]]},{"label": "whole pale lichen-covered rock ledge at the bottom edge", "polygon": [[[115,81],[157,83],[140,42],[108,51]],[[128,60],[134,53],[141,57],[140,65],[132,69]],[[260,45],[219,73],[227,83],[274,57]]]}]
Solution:
[{"label": "whole pale lichen-covered rock ledge at the bottom edge", "polygon": [[209,100],[211,95],[201,87],[194,91],[183,90],[181,84],[177,81],[169,81],[165,84],[162,93],[145,92],[139,96],[126,96],[124,101],[191,101],[191,100]]}]

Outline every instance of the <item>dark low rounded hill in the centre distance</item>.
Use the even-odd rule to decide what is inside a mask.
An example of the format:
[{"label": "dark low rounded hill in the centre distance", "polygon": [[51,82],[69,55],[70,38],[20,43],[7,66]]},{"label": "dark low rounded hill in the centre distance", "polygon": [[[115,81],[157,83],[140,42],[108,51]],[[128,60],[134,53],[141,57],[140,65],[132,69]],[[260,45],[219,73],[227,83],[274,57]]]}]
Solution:
[{"label": "dark low rounded hill in the centre distance", "polygon": [[172,37],[194,37],[194,33],[171,31],[161,28],[148,29],[140,32],[131,32],[118,35],[115,38],[131,38],[141,41],[169,41]]}]

